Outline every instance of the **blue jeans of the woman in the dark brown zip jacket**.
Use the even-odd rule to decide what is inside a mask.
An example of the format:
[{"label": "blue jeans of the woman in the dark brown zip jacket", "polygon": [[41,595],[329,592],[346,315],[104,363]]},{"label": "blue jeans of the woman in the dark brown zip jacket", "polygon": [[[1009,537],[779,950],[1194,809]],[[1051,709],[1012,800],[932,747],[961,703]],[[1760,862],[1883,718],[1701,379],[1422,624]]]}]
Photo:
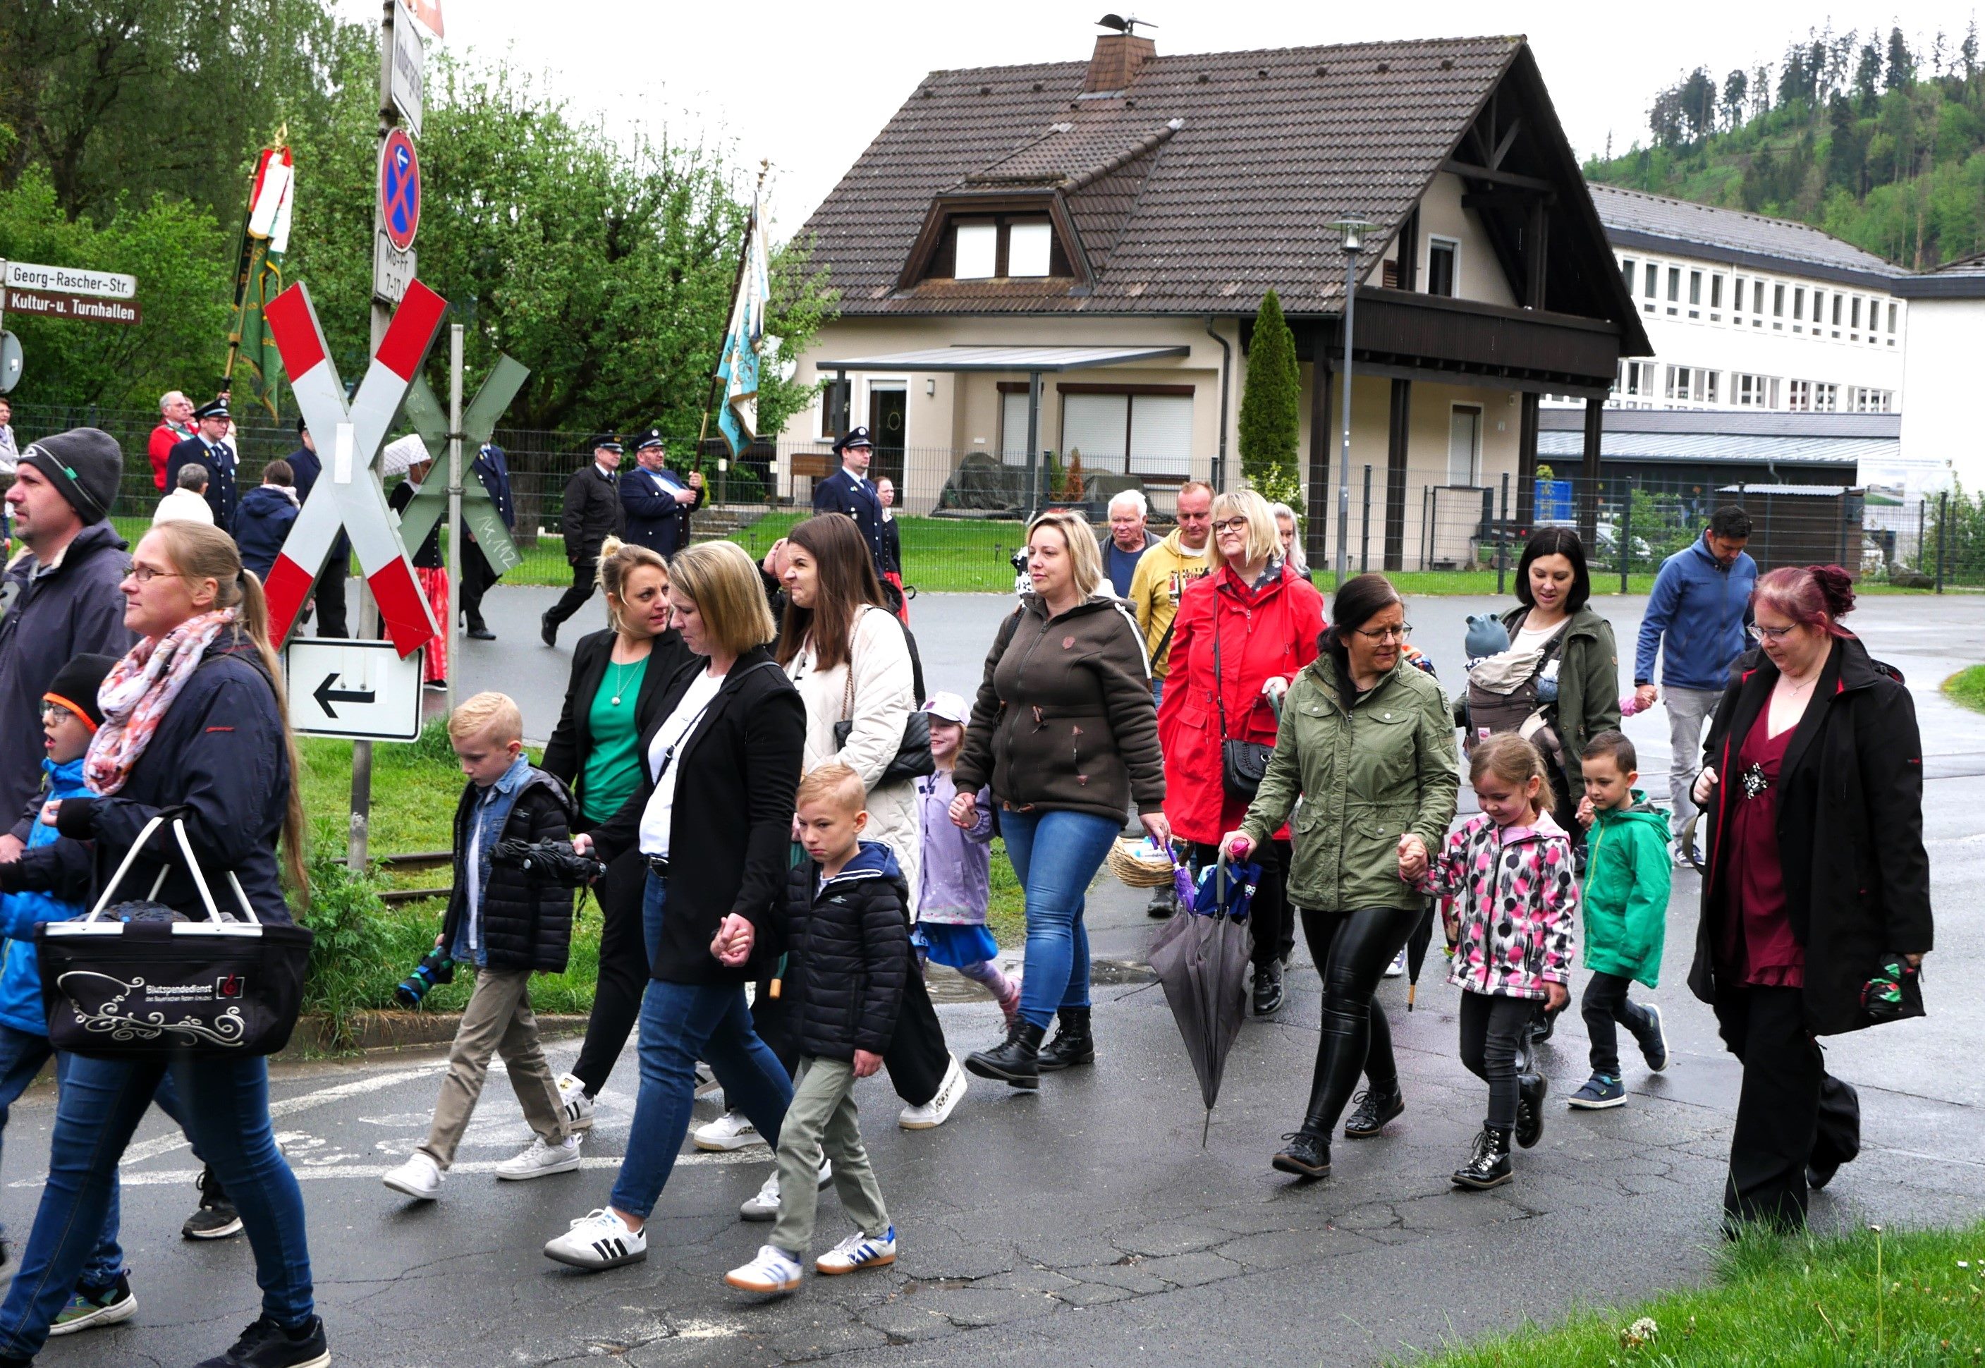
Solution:
[{"label": "blue jeans of the woman in the dark brown zip jacket", "polygon": [[1090,1005],[1090,931],[1082,925],[1084,893],[1120,818],[1094,812],[1000,812],[1006,858],[1026,889],[1026,967],[1020,973],[1020,1017],[1046,1030],[1056,1009]]}]

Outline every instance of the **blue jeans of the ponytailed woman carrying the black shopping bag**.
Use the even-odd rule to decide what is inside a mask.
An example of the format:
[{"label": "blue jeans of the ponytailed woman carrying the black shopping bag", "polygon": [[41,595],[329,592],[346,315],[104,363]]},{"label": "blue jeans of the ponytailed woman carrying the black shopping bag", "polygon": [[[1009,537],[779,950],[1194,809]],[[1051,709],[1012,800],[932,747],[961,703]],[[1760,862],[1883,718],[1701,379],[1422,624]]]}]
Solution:
[{"label": "blue jeans of the ponytailed woman carrying the black shopping bag", "polygon": [[115,1191],[117,1160],[171,1072],[181,1118],[212,1165],[254,1247],[262,1314],[296,1328],[310,1320],[310,1247],[304,1195],[276,1150],[268,1120],[268,1062],[250,1058],[99,1060],[75,1056],[56,1098],[48,1185],[20,1273],[0,1306],[0,1354],[34,1358],[97,1249]]}]

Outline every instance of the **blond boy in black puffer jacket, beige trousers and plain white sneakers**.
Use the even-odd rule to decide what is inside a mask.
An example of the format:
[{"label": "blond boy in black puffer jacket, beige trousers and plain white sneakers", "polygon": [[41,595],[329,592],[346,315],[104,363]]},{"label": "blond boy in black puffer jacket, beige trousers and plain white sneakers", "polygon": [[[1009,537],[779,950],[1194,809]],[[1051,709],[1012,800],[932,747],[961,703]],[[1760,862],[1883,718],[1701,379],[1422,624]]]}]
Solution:
[{"label": "blond boy in black puffer jacket, beige trousers and plain white sneakers", "polygon": [[524,719],[502,693],[478,693],[455,709],[449,743],[468,784],[455,808],[455,891],[435,945],[451,947],[451,957],[474,971],[476,991],[449,1050],[427,1142],[383,1179],[419,1201],[441,1195],[441,1175],[455,1162],[496,1052],[536,1132],[524,1154],[496,1165],[496,1177],[546,1177],[580,1167],[580,1142],[566,1128],[530,1011],[530,975],[566,969],[572,889],[536,868],[496,858],[496,844],[510,838],[570,840],[572,794],[524,758]]}]

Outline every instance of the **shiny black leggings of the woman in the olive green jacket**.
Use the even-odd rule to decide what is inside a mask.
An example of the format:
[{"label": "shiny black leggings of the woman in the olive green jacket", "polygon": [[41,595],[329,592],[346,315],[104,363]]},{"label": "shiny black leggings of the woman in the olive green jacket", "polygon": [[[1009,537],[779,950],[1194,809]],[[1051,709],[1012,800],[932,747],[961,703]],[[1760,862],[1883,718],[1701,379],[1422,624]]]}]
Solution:
[{"label": "shiny black leggings of the woman in the olive green jacket", "polygon": [[1302,1118],[1302,1130],[1312,1136],[1336,1130],[1360,1074],[1372,1080],[1374,1090],[1399,1088],[1391,1026],[1386,1025],[1386,1009],[1372,995],[1421,915],[1423,907],[1302,909],[1302,935],[1324,977],[1322,1034],[1310,1076],[1310,1108]]}]

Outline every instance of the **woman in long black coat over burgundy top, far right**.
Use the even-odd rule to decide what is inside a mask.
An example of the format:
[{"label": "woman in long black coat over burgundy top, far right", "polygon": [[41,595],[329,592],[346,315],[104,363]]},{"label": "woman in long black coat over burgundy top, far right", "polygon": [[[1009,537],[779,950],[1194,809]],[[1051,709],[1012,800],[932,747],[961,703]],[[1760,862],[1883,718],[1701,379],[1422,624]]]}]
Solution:
[{"label": "woman in long black coat over burgundy top, far right", "polygon": [[1923,747],[1902,675],[1840,625],[1838,566],[1773,570],[1759,649],[1723,691],[1695,802],[1711,818],[1689,989],[1743,1062],[1723,1225],[1802,1227],[1860,1152],[1860,1100],[1816,1036],[1860,1030],[1862,989],[1931,945]]}]

